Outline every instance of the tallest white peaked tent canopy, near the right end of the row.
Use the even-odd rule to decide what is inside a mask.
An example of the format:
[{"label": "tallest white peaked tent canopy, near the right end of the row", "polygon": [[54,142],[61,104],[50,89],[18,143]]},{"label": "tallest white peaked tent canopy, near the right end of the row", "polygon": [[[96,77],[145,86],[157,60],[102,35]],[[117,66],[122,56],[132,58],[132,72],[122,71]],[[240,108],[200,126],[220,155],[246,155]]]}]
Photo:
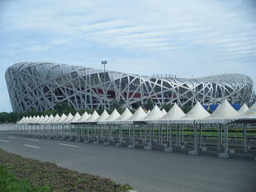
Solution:
[{"label": "tallest white peaked tent canopy, near the right end of the row", "polygon": [[226,119],[235,119],[239,117],[237,112],[226,99],[221,102],[218,108],[205,119],[198,120],[201,124],[223,124]]}]

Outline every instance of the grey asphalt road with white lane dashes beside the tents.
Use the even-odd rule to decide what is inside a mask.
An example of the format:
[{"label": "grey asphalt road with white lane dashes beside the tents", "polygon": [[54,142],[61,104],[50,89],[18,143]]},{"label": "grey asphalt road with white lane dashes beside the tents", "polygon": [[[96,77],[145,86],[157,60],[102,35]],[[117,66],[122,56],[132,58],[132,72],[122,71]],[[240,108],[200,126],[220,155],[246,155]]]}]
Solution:
[{"label": "grey asphalt road with white lane dashes beside the tents", "polygon": [[25,138],[0,131],[0,148],[23,157],[55,162],[79,172],[130,184],[140,192],[256,191],[256,162],[216,154],[145,151],[97,144]]}]

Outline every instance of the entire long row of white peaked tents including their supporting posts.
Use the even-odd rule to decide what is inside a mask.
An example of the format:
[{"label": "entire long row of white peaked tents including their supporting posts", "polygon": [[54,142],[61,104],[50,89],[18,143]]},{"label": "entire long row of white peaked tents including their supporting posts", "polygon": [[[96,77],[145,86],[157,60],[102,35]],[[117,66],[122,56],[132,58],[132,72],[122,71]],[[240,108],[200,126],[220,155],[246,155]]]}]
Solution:
[{"label": "entire long row of white peaked tents including their supporting posts", "polygon": [[[218,157],[226,158],[233,150],[229,149],[229,138],[233,138],[233,135],[228,136],[231,126],[230,131],[232,132],[244,125],[244,152],[253,152],[254,148],[250,149],[246,143],[246,139],[249,137],[252,137],[253,142],[255,140],[254,135],[247,137],[247,129],[253,124],[256,124],[256,103],[249,109],[247,105],[243,105],[237,111],[229,101],[224,100],[211,115],[199,102],[187,114],[175,103],[167,113],[154,105],[154,109],[149,113],[145,113],[145,110],[139,107],[134,114],[126,108],[121,115],[117,110],[113,110],[111,115],[107,113],[107,110],[103,110],[102,114],[98,115],[95,110],[92,115],[85,112],[82,116],[78,113],[74,116],[63,114],[60,117],[58,114],[55,117],[53,115],[27,116],[17,122],[17,130],[20,130],[20,133],[23,131],[29,137],[67,139],[116,146],[126,145],[128,148],[135,148],[136,145],[147,150],[154,146],[164,148],[165,152],[173,151],[173,143],[181,149],[185,148],[185,144],[188,148],[193,144],[193,150],[188,152],[191,155],[198,154],[198,146],[201,151],[204,151],[203,148],[206,146],[207,148],[211,146],[211,149],[215,149],[216,146],[218,151],[224,149],[224,152],[219,153]],[[183,132],[183,128],[185,132]],[[197,139],[198,128],[200,139]],[[173,129],[175,129],[174,137]],[[217,132],[217,134],[211,135],[203,134],[204,143],[211,141],[209,145],[201,142],[202,129],[211,129],[211,132]],[[186,133],[186,143],[183,133]],[[242,138],[240,135],[236,136]],[[208,140],[209,137],[211,139]],[[217,138],[217,142],[212,138]],[[237,148],[238,143],[240,141],[230,140],[230,148],[232,148],[232,144]]]}]

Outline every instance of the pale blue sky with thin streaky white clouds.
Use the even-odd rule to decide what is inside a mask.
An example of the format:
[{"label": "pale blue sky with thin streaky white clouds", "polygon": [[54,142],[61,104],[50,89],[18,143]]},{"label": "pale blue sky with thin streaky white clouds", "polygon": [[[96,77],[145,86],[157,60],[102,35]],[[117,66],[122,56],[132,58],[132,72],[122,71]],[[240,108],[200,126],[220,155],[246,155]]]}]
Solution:
[{"label": "pale blue sky with thin streaky white clouds", "polygon": [[117,72],[242,73],[256,84],[256,1],[0,0],[0,111],[12,111],[12,64],[102,60]]}]

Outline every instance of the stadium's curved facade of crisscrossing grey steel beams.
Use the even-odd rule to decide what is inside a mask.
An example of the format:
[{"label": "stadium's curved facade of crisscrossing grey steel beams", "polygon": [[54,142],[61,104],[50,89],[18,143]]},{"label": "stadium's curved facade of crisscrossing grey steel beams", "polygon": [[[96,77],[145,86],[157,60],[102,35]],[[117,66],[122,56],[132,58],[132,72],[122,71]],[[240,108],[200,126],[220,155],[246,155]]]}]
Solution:
[{"label": "stadium's curved facade of crisscrossing grey steel beams", "polygon": [[[104,81],[104,79],[106,81]],[[13,111],[52,110],[65,101],[76,110],[108,108],[111,101],[125,106],[248,102],[253,90],[250,77],[223,74],[194,79],[146,77],[59,63],[16,63],[7,69],[6,81]]]}]

